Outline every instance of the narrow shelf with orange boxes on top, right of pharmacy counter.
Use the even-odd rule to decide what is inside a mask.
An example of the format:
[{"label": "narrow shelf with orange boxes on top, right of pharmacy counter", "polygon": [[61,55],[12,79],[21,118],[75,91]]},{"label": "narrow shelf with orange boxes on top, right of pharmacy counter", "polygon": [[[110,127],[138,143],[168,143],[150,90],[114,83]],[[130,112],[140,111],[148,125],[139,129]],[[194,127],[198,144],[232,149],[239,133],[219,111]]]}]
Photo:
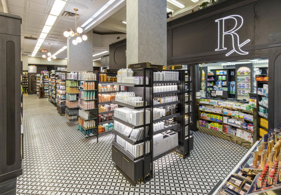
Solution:
[{"label": "narrow shelf with orange boxes on top, right of pharmacy counter", "polygon": [[256,75],[258,137],[268,133],[268,75]]}]

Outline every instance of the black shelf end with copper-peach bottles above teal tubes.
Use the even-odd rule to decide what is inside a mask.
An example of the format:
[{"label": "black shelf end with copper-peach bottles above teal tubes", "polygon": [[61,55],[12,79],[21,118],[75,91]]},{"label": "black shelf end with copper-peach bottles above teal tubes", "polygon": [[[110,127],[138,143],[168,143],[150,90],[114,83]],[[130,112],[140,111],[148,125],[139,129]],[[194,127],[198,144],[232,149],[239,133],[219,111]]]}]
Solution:
[{"label": "black shelf end with copper-peach bottles above teal tubes", "polygon": [[[90,74],[95,74],[96,78],[98,78],[98,72],[93,72],[93,71],[87,71],[87,74],[90,73]],[[83,74],[83,73],[81,73]],[[99,133],[98,133],[98,80],[90,80],[90,79],[87,79],[85,78],[86,75],[84,75],[84,78],[79,78],[79,73],[78,73],[78,90],[80,91],[79,94],[83,91],[86,92],[90,92],[90,91],[93,91],[93,93],[95,93],[95,97],[94,99],[91,99],[91,100],[84,100],[83,98],[78,97],[78,107],[79,107],[79,110],[84,110],[86,112],[89,112],[90,114],[90,119],[85,119],[83,118],[82,116],[80,116],[78,114],[78,118],[84,120],[84,121],[95,121],[95,124],[94,124],[94,127],[93,128],[85,128],[83,127],[81,124],[78,124],[78,130],[80,130],[84,137],[87,138],[87,137],[92,137],[92,136],[96,136],[97,137],[97,143],[99,142]],[[91,89],[91,90],[85,90],[83,89],[83,85],[85,84],[85,82],[93,82],[95,84],[95,89]],[[85,87],[85,86],[84,86]],[[84,92],[83,92],[84,93]],[[89,108],[89,109],[85,109],[83,107],[81,107],[81,103],[82,102],[89,102],[89,101],[94,101],[94,108]],[[84,105],[85,107],[85,105]],[[79,122],[79,120],[78,120]]]}]

